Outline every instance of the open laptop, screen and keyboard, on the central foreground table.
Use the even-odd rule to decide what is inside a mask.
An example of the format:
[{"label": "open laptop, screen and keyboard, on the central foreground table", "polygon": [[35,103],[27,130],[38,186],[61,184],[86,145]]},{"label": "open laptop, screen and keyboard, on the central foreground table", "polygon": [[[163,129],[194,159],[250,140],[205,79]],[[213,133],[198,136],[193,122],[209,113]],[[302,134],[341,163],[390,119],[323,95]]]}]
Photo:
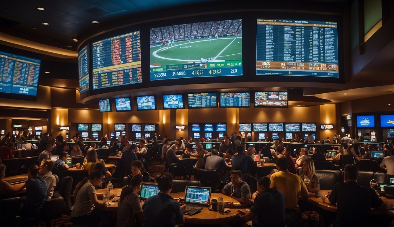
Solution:
[{"label": "open laptop, screen and keyboard, on the central foreground table", "polygon": [[211,188],[186,186],[184,203],[188,206],[182,210],[182,213],[187,215],[197,214],[203,207],[209,206],[210,199]]}]

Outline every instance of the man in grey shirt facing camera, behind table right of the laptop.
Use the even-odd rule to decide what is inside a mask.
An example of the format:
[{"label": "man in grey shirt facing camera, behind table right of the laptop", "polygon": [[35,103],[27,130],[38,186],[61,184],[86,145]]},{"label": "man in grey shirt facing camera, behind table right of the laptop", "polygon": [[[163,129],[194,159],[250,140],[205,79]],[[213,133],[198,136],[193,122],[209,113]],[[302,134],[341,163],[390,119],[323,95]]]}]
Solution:
[{"label": "man in grey shirt facing camera, behind table right of the laptop", "polygon": [[231,198],[240,202],[242,206],[247,207],[251,205],[251,194],[249,185],[242,180],[242,177],[243,175],[240,170],[232,170],[230,172],[231,182],[223,187],[222,193],[229,195]]}]

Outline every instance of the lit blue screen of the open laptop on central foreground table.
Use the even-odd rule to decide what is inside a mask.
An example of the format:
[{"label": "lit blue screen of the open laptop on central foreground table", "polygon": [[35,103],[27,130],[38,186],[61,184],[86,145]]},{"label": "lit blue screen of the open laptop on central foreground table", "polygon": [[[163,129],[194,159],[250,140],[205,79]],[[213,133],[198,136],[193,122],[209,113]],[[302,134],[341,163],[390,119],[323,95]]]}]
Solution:
[{"label": "lit blue screen of the open laptop on central foreground table", "polygon": [[185,203],[208,207],[211,198],[211,188],[186,186]]}]

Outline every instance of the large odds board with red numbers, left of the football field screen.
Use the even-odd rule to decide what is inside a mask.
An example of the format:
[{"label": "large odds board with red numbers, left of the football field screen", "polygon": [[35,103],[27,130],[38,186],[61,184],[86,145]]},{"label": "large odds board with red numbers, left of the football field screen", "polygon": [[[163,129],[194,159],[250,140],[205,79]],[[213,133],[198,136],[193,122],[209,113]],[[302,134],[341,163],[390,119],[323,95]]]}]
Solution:
[{"label": "large odds board with red numbers, left of the football field screen", "polygon": [[140,32],[92,44],[93,89],[142,82]]}]

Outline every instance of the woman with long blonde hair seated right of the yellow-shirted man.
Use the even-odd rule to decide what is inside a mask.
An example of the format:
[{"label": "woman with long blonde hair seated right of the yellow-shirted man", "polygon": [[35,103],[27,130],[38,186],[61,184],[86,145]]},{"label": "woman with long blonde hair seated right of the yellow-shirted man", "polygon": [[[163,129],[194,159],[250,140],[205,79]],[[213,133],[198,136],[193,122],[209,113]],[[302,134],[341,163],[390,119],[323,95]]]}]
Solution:
[{"label": "woman with long blonde hair seated right of the yellow-shirted man", "polygon": [[312,193],[319,192],[320,179],[318,175],[316,175],[315,165],[311,158],[304,160],[299,176],[301,177],[301,179],[304,180],[304,182],[306,178],[309,179],[309,183],[308,181],[305,182],[308,192],[312,192]]}]

